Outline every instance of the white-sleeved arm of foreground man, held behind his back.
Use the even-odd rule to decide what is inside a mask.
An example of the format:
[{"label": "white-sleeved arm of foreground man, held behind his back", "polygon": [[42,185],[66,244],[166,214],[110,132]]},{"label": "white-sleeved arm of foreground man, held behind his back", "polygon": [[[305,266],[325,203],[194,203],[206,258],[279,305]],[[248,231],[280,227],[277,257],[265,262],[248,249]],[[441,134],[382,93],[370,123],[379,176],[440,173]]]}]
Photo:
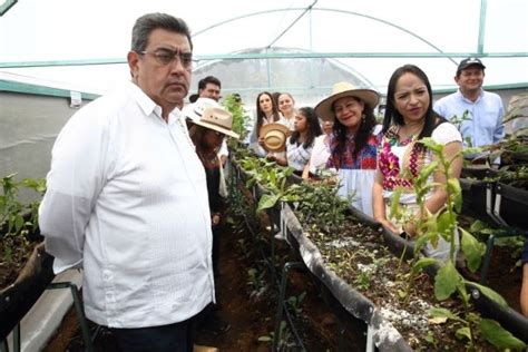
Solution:
[{"label": "white-sleeved arm of foreground man, held behind his back", "polygon": [[46,251],[55,256],[56,273],[82,264],[85,229],[101,189],[106,149],[105,128],[82,110],[68,121],[53,146],[39,226]]}]

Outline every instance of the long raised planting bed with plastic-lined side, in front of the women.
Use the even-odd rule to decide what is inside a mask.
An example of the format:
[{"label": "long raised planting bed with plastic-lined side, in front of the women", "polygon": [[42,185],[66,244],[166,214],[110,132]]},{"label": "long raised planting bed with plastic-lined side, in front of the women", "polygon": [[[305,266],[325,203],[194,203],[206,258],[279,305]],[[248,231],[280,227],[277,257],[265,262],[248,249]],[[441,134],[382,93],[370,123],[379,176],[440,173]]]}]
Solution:
[{"label": "long raised planting bed with plastic-lined side, in front of the women", "polygon": [[[254,180],[254,173],[243,175],[242,178]],[[253,194],[258,201],[262,192]],[[267,195],[266,201],[271,197],[273,195]],[[325,202],[325,198],[322,197],[320,201]],[[277,207],[275,211],[278,211],[278,204],[275,205]],[[314,204],[314,207],[316,206]],[[465,350],[468,340],[461,338],[467,330],[467,325],[461,323],[462,315],[465,319],[469,316],[475,322],[483,322],[480,325],[482,329],[495,326],[495,323],[489,325],[476,307],[486,313],[487,310],[497,310],[498,305],[490,309],[490,305],[482,303],[465,309],[459,300],[437,301],[431,280],[436,273],[434,268],[429,270],[432,276],[420,273],[409,284],[410,267],[407,261],[393,252],[401,253],[403,248],[410,250],[411,246],[387,231],[380,233],[378,224],[364,218],[363,214],[354,214],[355,216],[349,214],[341,231],[322,232],[317,226],[313,226],[313,218],[307,218],[299,209],[295,212],[292,212],[289,204],[283,206],[281,212],[283,217],[281,222],[286,223],[293,247],[299,251],[314,276],[335,295],[343,309],[369,325],[373,341],[380,350],[439,348]],[[311,216],[315,217],[314,214],[316,212]],[[321,216],[320,223],[326,215]],[[473,290],[475,286],[468,285],[468,292],[475,295],[473,301],[482,296],[480,291]],[[431,310],[436,310],[437,313],[431,315]],[[443,312],[443,316],[438,314],[439,311]],[[450,319],[446,319],[446,315]],[[500,320],[502,326],[509,326],[508,329],[512,326],[510,331],[515,330],[517,338],[526,341],[522,332],[528,331],[528,324],[520,314],[501,306],[500,314],[493,317]],[[516,322],[509,324],[505,323],[506,321]],[[509,338],[514,340],[514,345],[521,345],[511,335]],[[493,349],[479,331],[473,331],[472,344],[476,349]]]}]

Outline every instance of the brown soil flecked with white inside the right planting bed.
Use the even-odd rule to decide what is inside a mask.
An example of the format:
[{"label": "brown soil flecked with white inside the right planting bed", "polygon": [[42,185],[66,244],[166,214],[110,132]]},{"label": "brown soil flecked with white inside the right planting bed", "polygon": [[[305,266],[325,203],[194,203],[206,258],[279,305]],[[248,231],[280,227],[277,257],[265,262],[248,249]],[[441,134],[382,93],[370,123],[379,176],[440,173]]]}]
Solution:
[{"label": "brown soil flecked with white inside the right planting bed", "polygon": [[[413,350],[465,351],[463,343],[454,338],[462,325],[453,321],[430,319],[429,310],[439,306],[454,314],[462,312],[459,301],[436,301],[433,285],[426,274],[412,282],[405,302],[402,293],[408,290],[409,265],[392,254],[382,236],[372,228],[349,221],[340,234],[309,233],[327,266],[352,289],[371,300],[382,316],[390,322]],[[461,315],[463,316],[463,315]],[[482,339],[476,345],[493,350]]]}]

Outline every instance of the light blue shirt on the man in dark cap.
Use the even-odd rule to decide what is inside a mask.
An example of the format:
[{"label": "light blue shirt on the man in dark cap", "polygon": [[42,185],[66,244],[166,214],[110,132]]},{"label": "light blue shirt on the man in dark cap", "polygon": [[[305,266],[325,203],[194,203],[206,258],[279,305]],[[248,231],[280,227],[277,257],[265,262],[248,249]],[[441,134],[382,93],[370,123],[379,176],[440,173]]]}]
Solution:
[{"label": "light blue shirt on the man in dark cap", "polygon": [[[460,89],[434,104],[434,111],[451,120],[462,135],[463,143],[468,146],[468,138],[472,147],[496,144],[505,137],[502,117],[505,108],[499,95],[486,90],[473,102],[466,99]],[[466,119],[460,121],[465,111]],[[457,116],[457,119],[453,117]]]}]

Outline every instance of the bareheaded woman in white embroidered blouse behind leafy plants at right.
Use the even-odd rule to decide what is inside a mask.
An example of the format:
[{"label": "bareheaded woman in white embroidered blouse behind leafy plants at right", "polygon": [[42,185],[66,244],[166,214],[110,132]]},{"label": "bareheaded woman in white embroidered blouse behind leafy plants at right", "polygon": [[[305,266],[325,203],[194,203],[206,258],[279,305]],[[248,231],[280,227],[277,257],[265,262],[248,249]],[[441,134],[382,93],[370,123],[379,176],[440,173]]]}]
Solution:
[{"label": "bareheaded woman in white embroidered blouse behind leafy plants at right", "polygon": [[[415,235],[414,222],[403,224],[388,218],[388,203],[395,187],[402,187],[400,204],[407,212],[412,212],[407,218],[419,218],[417,195],[413,192],[413,180],[422,167],[430,164],[434,157],[417,140],[431,137],[443,145],[444,157],[452,159],[462,148],[462,138],[457,128],[446,121],[432,109],[432,90],[426,74],[413,65],[398,68],[389,81],[387,92],[387,109],[383,119],[383,140],[379,155],[379,167],[373,196],[374,218],[397,234],[405,233],[411,238]],[[462,159],[458,157],[451,165],[451,176],[459,177]],[[441,172],[434,172],[430,182],[446,183]],[[436,187],[426,196],[426,207],[431,213],[439,212],[446,204],[447,194],[441,187]],[[458,235],[457,235],[458,238]],[[428,245],[429,256],[447,260],[449,245],[443,238],[433,248]]]}]

